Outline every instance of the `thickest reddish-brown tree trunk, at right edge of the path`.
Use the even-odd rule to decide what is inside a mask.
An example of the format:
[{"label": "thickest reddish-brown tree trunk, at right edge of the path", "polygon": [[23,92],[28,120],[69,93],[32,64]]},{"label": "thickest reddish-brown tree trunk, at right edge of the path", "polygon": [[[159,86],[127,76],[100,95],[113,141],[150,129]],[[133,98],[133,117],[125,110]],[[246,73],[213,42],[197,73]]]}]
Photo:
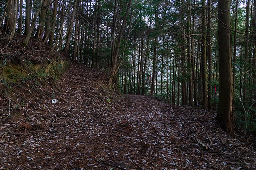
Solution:
[{"label": "thickest reddish-brown tree trunk, at right edge of the path", "polygon": [[230,26],[230,2],[218,0],[218,37],[219,37],[219,63],[220,63],[220,91],[219,109],[217,119],[226,132],[234,135],[234,101],[232,80],[232,50]]}]

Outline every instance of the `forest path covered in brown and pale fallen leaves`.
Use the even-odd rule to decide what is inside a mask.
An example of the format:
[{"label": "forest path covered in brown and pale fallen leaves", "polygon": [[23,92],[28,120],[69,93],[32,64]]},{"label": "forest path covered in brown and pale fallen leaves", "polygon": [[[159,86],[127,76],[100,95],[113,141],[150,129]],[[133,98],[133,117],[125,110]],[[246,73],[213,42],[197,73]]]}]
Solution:
[{"label": "forest path covered in brown and pale fallen leaves", "polygon": [[1,124],[0,169],[255,169],[254,145],[225,135],[214,112],[116,95],[106,78],[72,64],[55,87],[58,103],[24,95],[27,118]]}]

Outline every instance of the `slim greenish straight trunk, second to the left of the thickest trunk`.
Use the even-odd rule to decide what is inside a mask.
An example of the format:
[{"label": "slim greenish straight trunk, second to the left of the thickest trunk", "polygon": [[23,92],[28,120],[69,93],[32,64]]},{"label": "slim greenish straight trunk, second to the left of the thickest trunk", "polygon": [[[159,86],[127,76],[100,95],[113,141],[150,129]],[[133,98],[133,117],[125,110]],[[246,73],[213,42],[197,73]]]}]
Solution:
[{"label": "slim greenish straight trunk, second to the left of the thickest trunk", "polygon": [[202,46],[201,46],[201,70],[202,70],[202,104],[207,109],[207,60],[206,60],[206,30],[205,30],[205,0],[202,0]]}]

